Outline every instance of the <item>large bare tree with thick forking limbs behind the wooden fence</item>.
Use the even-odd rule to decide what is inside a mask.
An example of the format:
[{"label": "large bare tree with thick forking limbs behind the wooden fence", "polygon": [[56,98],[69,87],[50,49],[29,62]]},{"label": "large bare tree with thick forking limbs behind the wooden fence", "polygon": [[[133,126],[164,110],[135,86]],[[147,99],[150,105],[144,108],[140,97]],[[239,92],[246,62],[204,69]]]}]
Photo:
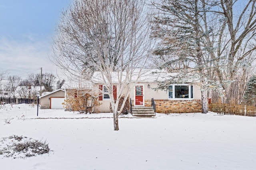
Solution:
[{"label": "large bare tree with thick forking limbs behind the wooden fence", "polygon": [[[218,39],[217,57],[222,68],[217,75],[227,103],[240,104],[246,90],[256,51],[256,0],[220,0],[223,28]],[[229,80],[229,84],[225,82]],[[241,86],[240,86],[241,85]]]}]

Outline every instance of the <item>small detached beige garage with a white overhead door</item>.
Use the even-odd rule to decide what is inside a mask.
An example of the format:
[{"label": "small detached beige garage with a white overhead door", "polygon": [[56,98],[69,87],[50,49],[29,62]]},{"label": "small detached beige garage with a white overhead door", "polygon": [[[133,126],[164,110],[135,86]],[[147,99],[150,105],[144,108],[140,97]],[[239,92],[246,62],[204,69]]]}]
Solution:
[{"label": "small detached beige garage with a white overhead door", "polygon": [[58,89],[40,97],[41,109],[64,109],[65,91]]}]

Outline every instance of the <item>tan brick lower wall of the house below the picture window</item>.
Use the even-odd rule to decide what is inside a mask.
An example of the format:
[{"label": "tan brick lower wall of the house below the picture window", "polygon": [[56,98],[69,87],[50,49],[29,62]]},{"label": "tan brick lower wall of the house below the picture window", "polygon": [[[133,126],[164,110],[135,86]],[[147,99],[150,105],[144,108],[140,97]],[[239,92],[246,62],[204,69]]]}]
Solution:
[{"label": "tan brick lower wall of the house below the picture window", "polygon": [[[155,100],[157,113],[196,113],[202,112],[201,100]],[[151,106],[151,100],[145,100]]]}]

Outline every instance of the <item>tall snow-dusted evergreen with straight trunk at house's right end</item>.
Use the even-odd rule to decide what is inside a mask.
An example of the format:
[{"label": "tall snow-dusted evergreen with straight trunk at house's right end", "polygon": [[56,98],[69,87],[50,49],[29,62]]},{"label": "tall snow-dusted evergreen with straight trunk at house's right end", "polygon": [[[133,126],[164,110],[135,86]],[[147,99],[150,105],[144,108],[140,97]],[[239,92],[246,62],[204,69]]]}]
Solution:
[{"label": "tall snow-dusted evergreen with straight trunk at house's right end", "polygon": [[176,68],[171,67],[171,71],[179,70],[184,74],[192,72],[200,76],[202,113],[207,113],[206,87],[209,76],[206,66],[209,63],[209,46],[204,41],[205,35],[212,38],[214,34],[204,24],[210,20],[207,12],[216,4],[209,0],[158,2],[160,3],[153,3],[159,10],[159,15],[155,17],[152,35],[162,41],[154,53],[160,56],[164,68],[170,69],[170,65],[174,65]]}]

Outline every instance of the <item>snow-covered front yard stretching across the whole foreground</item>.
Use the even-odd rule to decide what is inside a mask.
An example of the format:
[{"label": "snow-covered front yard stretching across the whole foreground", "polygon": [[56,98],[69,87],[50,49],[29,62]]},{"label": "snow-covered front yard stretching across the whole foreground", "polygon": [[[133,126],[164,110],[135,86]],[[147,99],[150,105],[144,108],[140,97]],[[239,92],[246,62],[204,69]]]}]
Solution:
[{"label": "snow-covered front yard stretching across the whole foreground", "polygon": [[[22,135],[46,140],[52,151],[25,159],[0,155],[1,170],[256,167],[256,117],[184,113],[138,119],[127,115],[119,119],[120,130],[114,131],[111,113],[39,109],[37,117],[36,111],[36,106],[26,104],[0,106],[0,139]],[[7,119],[10,124],[5,123]]]}]

